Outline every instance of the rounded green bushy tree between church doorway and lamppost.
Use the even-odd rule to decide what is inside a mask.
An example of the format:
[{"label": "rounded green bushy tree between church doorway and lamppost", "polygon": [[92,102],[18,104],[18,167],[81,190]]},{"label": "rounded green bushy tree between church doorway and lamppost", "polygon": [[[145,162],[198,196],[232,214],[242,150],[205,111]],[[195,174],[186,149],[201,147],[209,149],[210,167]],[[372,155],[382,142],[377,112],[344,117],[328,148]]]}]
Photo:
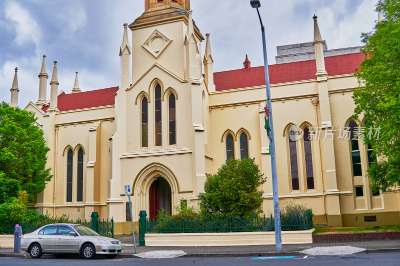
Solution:
[{"label": "rounded green bushy tree between church doorway and lamppost", "polygon": [[261,213],[259,186],[265,181],[254,159],[230,158],[216,174],[207,177],[204,193],[198,195],[201,214],[244,217]]}]

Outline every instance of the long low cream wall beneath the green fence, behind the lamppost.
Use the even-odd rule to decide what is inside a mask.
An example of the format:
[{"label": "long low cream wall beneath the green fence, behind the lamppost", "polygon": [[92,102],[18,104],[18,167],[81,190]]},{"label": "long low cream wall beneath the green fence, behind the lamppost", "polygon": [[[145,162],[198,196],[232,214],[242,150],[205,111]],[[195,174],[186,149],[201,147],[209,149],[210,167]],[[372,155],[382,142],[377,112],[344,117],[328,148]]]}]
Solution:
[{"label": "long low cream wall beneath the green fence, behind the lamppost", "polygon": [[[284,231],[282,244],[312,243],[313,231]],[[145,234],[144,239],[146,246],[153,247],[274,245],[275,232]]]}]

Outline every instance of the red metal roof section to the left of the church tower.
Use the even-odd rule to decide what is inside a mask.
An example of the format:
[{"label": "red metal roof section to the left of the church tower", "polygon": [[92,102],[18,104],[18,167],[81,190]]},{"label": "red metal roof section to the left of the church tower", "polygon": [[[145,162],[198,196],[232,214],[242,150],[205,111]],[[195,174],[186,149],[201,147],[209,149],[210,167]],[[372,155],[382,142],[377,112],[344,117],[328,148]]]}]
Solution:
[{"label": "red metal roof section to the left of the church tower", "polygon": [[[63,112],[69,110],[113,105],[115,103],[114,94],[117,90],[118,87],[112,87],[69,94],[65,94],[64,92],[62,92],[60,95],[58,95],[57,107],[58,110]],[[48,106],[42,108],[44,112],[47,109]]]}]

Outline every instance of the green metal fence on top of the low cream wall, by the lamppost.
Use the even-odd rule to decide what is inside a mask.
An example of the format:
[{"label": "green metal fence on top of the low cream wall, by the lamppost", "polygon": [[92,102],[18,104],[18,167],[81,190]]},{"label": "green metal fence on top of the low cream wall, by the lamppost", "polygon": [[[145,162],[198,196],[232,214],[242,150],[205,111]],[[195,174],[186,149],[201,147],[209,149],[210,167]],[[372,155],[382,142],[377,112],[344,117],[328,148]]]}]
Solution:
[{"label": "green metal fence on top of the low cream wall, by the lamppost", "polygon": [[[306,212],[301,215],[281,215],[281,230],[296,231],[312,229],[312,214]],[[139,230],[144,229],[145,234],[149,233],[216,233],[216,232],[263,232],[274,231],[274,219],[269,217],[226,218],[205,217],[204,219],[181,219],[181,220],[150,220],[140,217]]]}]

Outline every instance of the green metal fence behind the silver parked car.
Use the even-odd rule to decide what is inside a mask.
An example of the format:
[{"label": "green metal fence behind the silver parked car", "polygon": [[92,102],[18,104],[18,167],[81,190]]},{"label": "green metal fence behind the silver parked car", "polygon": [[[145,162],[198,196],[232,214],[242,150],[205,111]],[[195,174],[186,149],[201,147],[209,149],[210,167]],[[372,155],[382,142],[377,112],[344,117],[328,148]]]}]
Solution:
[{"label": "green metal fence behind the silver parked car", "polygon": [[[93,215],[92,215],[93,217]],[[98,234],[104,237],[109,237],[113,238],[114,237],[114,220],[111,218],[109,221],[108,219],[104,221],[98,220],[98,215],[94,219],[90,219],[90,221],[86,220],[76,220],[76,221],[65,221],[65,219],[60,219],[60,220],[46,220],[46,221],[38,221],[38,222],[22,222],[19,223],[19,226],[22,228],[22,234],[27,234],[35,231],[36,229],[39,229],[42,226],[45,225],[50,225],[50,224],[59,224],[59,223],[68,223],[68,224],[77,224],[77,225],[82,225],[89,227],[96,231]],[[94,222],[92,222],[94,221]],[[12,235],[14,234],[14,227],[15,223],[11,222],[5,222],[2,225],[0,225],[0,235]]]}]

